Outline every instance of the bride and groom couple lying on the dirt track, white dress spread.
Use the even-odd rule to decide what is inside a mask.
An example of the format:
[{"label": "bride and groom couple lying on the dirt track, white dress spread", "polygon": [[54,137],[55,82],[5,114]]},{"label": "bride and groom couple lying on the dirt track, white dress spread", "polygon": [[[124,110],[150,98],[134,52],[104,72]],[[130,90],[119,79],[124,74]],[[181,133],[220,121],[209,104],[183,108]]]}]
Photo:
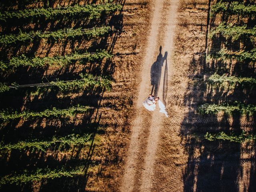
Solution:
[{"label": "bride and groom couple lying on the dirt track, white dress spread", "polygon": [[154,111],[156,109],[156,103],[158,102],[158,106],[160,108],[160,113],[164,113],[166,117],[168,117],[168,113],[166,112],[165,106],[161,100],[159,100],[159,97],[154,97],[151,94],[148,96],[148,98],[143,102],[143,106],[149,110]]}]

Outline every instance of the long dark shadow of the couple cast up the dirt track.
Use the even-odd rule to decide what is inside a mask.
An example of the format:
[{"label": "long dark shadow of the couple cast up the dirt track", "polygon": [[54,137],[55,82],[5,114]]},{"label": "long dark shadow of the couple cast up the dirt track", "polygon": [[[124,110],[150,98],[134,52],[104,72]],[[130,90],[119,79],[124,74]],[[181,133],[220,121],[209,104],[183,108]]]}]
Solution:
[{"label": "long dark shadow of the couple cast up the dirt track", "polygon": [[156,61],[152,64],[150,69],[150,80],[152,85],[151,94],[154,92],[154,96],[158,96],[159,86],[160,86],[160,80],[162,75],[162,66],[165,63],[165,69],[164,69],[164,84],[163,84],[163,93],[162,93],[162,102],[164,105],[166,105],[166,96],[167,96],[167,88],[168,88],[168,66],[167,66],[167,54],[166,51],[164,53],[164,56],[162,55],[162,46],[159,48],[159,54],[156,58]]}]

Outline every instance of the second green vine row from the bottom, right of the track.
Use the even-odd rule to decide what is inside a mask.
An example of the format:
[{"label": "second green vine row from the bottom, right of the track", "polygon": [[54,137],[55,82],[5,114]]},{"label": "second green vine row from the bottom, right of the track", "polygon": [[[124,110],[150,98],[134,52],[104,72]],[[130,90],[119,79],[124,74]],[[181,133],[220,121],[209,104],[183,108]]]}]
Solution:
[{"label": "second green vine row from the bottom, right of the track", "polygon": [[234,105],[229,104],[203,104],[198,107],[198,112],[200,114],[217,114],[220,111],[224,111],[227,114],[232,114],[233,112],[240,112],[242,114],[252,115],[256,112],[256,106],[254,105],[244,105],[235,102]]}]

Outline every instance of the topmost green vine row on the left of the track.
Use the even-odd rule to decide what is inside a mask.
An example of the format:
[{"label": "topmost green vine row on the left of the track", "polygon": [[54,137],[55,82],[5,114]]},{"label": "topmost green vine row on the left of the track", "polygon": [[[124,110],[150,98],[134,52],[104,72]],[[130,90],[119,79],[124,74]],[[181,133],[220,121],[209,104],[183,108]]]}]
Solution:
[{"label": "topmost green vine row on the left of the track", "polygon": [[26,9],[15,12],[3,12],[0,13],[0,20],[6,20],[8,18],[28,18],[45,16],[46,18],[52,18],[58,14],[75,15],[79,13],[86,13],[90,15],[90,19],[99,18],[102,12],[109,13],[114,10],[121,10],[122,5],[106,3],[106,4],[89,4],[81,6],[76,4],[75,6],[66,6],[60,8],[38,8],[38,9]]}]

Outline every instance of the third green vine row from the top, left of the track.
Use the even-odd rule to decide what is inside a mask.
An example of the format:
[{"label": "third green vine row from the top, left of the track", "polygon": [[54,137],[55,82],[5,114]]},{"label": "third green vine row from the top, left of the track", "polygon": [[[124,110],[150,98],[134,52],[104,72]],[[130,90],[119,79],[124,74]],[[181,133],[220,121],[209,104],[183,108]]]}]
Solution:
[{"label": "third green vine row from the top, left of the track", "polygon": [[96,53],[90,54],[89,52],[85,52],[82,54],[79,53],[73,53],[70,55],[65,56],[56,56],[56,57],[34,57],[34,58],[28,58],[24,55],[20,57],[13,57],[11,58],[10,62],[0,62],[0,69],[5,70],[7,68],[14,68],[18,66],[31,66],[31,67],[42,67],[45,65],[60,65],[64,66],[67,64],[70,64],[74,60],[82,60],[86,58],[89,61],[96,60],[96,59],[102,59],[102,58],[111,58],[113,55],[109,54],[105,50],[97,50]]}]

